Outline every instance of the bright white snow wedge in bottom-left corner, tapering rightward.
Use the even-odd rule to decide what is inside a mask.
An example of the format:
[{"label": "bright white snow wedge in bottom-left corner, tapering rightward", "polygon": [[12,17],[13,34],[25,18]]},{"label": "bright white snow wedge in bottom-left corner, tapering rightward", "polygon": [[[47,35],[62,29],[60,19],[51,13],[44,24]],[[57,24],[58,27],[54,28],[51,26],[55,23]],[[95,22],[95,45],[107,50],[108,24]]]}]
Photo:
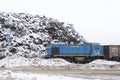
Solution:
[{"label": "bright white snow wedge in bottom-left corner, tapering rightward", "polygon": [[62,75],[0,71],[0,80],[90,80]]}]

